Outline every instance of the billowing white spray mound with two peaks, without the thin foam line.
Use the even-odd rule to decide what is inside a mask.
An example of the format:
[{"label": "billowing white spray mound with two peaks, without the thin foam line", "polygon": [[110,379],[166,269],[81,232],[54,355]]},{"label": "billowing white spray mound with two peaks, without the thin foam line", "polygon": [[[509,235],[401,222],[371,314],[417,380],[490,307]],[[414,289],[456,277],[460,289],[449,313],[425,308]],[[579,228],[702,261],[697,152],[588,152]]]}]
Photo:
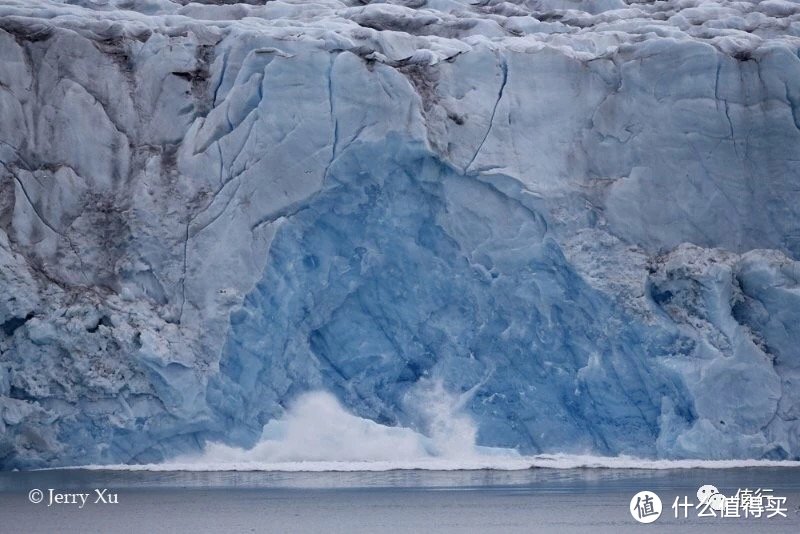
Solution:
[{"label": "billowing white spray mound with two peaks, without the thin foam line", "polygon": [[178,458],[174,463],[209,469],[226,465],[286,470],[301,466],[322,470],[336,464],[336,469],[349,470],[477,468],[502,458],[519,461],[515,450],[476,446],[477,427],[463,409],[473,393],[453,395],[440,381],[421,381],[406,396],[405,405],[418,414],[424,433],[357,417],[328,392],[306,393],[284,417],[264,426],[253,448],[209,443],[201,456]]}]

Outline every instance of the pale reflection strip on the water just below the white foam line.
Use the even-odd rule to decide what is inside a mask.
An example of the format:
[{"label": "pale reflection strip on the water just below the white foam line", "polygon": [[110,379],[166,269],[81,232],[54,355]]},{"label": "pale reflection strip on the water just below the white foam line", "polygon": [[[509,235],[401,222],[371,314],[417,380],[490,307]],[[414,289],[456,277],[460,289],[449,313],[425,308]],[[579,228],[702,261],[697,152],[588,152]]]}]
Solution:
[{"label": "pale reflection strip on the water just below the white foam line", "polygon": [[103,471],[48,470],[0,473],[0,491],[30,487],[114,488],[275,488],[356,489],[408,488],[448,490],[517,490],[530,493],[574,493],[696,488],[712,481],[725,487],[775,487],[800,490],[800,469],[529,469],[524,471],[382,471],[287,473],[263,471]]}]

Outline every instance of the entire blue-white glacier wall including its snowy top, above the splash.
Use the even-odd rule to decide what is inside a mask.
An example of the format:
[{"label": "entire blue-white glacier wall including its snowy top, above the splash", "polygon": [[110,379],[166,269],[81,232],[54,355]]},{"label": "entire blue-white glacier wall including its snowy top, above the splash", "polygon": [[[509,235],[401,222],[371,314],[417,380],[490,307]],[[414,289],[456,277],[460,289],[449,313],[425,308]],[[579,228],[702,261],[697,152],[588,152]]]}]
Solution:
[{"label": "entire blue-white glacier wall including its snowy top, above the splash", "polygon": [[[0,467],[252,445],[800,458],[800,4],[0,5]],[[420,428],[424,431],[424,428]]]}]

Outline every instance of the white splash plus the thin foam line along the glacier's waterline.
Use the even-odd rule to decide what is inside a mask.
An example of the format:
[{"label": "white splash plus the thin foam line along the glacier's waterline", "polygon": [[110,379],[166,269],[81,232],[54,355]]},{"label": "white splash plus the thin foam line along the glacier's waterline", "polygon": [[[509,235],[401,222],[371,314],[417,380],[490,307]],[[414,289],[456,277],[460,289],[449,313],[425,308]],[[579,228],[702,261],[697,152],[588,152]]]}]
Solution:
[{"label": "white splash plus the thin foam line along the glacier's waterline", "polygon": [[800,467],[770,460],[651,460],[581,454],[521,455],[515,449],[481,447],[476,427],[461,411],[467,392],[447,393],[440,383],[416,392],[410,404],[422,412],[427,434],[378,424],[349,413],[330,393],[299,397],[279,420],[264,427],[251,449],[208,443],[200,455],[159,464],[94,465],[85,469],[131,471],[392,471],[532,468],[691,469]]}]

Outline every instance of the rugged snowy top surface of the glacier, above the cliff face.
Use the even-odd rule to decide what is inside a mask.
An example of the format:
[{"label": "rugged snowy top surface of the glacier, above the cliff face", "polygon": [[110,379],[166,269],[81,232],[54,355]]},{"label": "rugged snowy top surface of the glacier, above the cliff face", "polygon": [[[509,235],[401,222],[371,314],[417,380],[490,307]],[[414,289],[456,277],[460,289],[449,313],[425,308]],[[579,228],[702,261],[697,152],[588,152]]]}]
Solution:
[{"label": "rugged snowy top surface of the glacier, above the cliff face", "polygon": [[552,47],[583,60],[657,39],[707,42],[733,56],[800,44],[800,3],[787,0],[9,0],[0,17],[27,31],[54,25],[103,39],[191,30],[216,42],[259,32],[420,64],[479,43]]}]

